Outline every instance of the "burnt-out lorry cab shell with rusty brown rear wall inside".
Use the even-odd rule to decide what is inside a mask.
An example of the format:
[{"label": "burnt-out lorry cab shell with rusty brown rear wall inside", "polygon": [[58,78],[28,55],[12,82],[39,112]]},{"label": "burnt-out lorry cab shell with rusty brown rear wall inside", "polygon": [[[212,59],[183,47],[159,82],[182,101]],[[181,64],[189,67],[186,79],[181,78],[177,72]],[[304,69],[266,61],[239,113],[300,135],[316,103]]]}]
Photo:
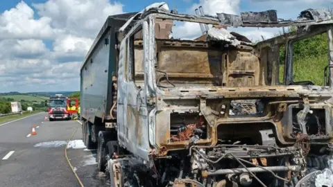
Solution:
[{"label": "burnt-out lorry cab shell with rusty brown rear wall inside", "polygon": [[[256,132],[267,128],[280,132],[275,139],[287,147],[293,144],[297,134],[292,130],[291,121],[297,112],[302,111],[301,105],[291,100],[307,102],[310,96],[325,108],[318,115],[323,115],[321,125],[326,125],[321,130],[330,139],[332,125],[324,116],[332,118],[331,109],[323,104],[332,97],[330,78],[325,78],[327,83],[322,86],[311,81],[297,82],[293,80],[291,69],[293,44],[300,39],[332,32],[332,23],[314,24],[312,30],[300,29],[254,44],[244,36],[232,35],[225,28],[215,27],[225,23],[221,20],[187,18],[161,10],[146,12],[134,26],[120,29],[124,37],[119,49],[117,78],[119,143],[148,161],[151,150],[157,153],[156,157],[164,157],[169,151],[180,150],[191,141],[196,145],[214,146],[218,139],[231,138],[225,130],[233,129],[237,132],[234,136],[242,137],[247,136],[242,135],[244,126],[255,124],[253,131]],[[205,39],[174,39],[169,37],[173,21],[211,24],[212,27]],[[332,38],[327,41],[330,42]],[[284,69],[280,69],[278,57],[283,44],[287,46],[287,55]],[[330,59],[327,67],[331,66]],[[284,73],[282,81],[279,71]],[[318,103],[306,105],[319,112]],[[287,107],[283,110],[283,118],[273,119],[282,106]],[[232,111],[236,110],[241,111],[234,114]],[[199,127],[205,135],[194,140],[183,137],[177,129],[198,123],[194,119],[203,120]],[[178,124],[184,120],[188,121],[185,125]]]}]

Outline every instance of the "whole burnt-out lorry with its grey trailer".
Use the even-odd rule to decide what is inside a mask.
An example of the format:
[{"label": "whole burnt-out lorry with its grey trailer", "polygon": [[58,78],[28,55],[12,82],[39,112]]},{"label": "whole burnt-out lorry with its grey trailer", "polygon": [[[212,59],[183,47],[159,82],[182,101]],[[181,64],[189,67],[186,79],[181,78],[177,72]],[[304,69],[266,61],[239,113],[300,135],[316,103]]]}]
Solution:
[{"label": "whole burnt-out lorry with its grey trailer", "polygon": [[[329,186],[332,16],[182,15],[155,3],[108,17],[80,70],[83,141],[98,169],[117,187]],[[178,39],[177,21],[208,29]],[[297,29],[255,44],[229,31],[287,26]],[[293,44],[321,34],[323,85],[296,81]]]}]

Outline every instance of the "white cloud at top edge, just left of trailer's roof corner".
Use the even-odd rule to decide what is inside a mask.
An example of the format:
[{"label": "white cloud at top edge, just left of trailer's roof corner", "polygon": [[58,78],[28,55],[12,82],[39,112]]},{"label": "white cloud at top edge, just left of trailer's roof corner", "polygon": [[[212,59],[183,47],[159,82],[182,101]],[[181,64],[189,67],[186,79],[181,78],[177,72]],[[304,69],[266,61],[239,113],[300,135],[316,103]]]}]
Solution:
[{"label": "white cloud at top edge, just left of trailer's roof corner", "polygon": [[108,0],[49,0],[33,7],[41,17],[51,17],[55,28],[85,37],[95,37],[109,15],[123,12],[121,3]]}]

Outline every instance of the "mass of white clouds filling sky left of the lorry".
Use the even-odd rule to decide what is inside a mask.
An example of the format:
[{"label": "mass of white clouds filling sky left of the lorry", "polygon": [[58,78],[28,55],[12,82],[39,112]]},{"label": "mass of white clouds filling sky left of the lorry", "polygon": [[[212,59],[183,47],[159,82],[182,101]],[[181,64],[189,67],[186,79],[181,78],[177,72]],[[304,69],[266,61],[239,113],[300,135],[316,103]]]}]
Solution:
[{"label": "mass of white clouds filling sky left of the lorry", "polygon": [[21,1],[0,12],[0,90],[78,90],[94,37],[109,15],[122,12],[109,0]]}]

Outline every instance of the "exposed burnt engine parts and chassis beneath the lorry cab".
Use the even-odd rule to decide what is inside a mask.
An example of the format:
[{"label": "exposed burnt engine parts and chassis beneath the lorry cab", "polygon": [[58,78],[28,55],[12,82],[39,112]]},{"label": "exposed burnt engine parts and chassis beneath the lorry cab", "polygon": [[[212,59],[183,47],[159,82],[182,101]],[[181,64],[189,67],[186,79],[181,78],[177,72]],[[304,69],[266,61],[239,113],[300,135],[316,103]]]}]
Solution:
[{"label": "exposed burnt engine parts and chassis beneath the lorry cab", "polygon": [[[259,105],[251,105],[255,114],[258,114],[256,106]],[[142,162],[137,161],[136,157],[119,157],[115,159],[120,162],[114,165],[117,173],[114,179],[126,175],[124,171],[129,174],[135,171],[133,177],[122,177],[126,181],[124,186],[291,187],[302,186],[300,182],[305,186],[315,185],[317,176],[331,176],[327,168],[332,168],[330,161],[333,157],[330,155],[333,153],[333,144],[318,141],[318,137],[323,136],[325,132],[325,125],[321,125],[325,124],[325,110],[311,107],[292,109],[291,117],[297,120],[292,123],[295,136],[291,137],[295,141],[289,146],[280,146],[279,137],[271,123],[258,123],[252,130],[241,132],[242,125],[250,125],[246,122],[230,126],[221,125],[221,128],[217,128],[219,139],[216,145],[197,145],[198,140],[208,138],[205,116],[200,112],[171,113],[170,143],[187,142],[187,147],[184,150],[169,152],[164,148],[164,151],[168,152],[165,157],[156,157],[157,153],[152,150],[153,161],[145,163],[144,167],[140,166]],[[249,109],[246,111],[246,114],[234,114],[251,115]],[[263,112],[264,110],[259,113]],[[305,131],[299,128],[302,125],[305,126]],[[225,130],[232,135],[223,134]],[[131,159],[135,161],[130,162]],[[119,165],[120,163],[123,166]],[[137,169],[133,170],[133,167]],[[119,170],[123,172],[120,173]],[[325,181],[327,182],[329,181]]]}]

